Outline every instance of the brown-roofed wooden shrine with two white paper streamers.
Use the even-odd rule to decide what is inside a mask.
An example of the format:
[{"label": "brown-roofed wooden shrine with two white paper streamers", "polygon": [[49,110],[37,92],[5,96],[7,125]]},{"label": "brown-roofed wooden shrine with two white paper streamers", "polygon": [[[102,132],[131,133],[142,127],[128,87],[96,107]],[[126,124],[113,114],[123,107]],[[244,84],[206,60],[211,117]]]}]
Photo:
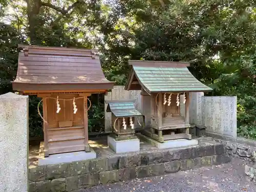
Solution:
[{"label": "brown-roofed wooden shrine with two white paper streamers", "polygon": [[42,98],[45,156],[90,151],[88,97],[113,89],[95,50],[23,46],[13,90]]}]

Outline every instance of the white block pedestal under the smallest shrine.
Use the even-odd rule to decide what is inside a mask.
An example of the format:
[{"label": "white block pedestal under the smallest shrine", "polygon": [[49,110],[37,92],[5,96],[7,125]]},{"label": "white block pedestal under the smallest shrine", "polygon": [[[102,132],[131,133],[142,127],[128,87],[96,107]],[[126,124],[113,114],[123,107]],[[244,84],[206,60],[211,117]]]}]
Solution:
[{"label": "white block pedestal under the smallest shrine", "polygon": [[108,145],[115,153],[140,151],[140,140],[137,138],[118,141],[115,138],[108,136]]}]

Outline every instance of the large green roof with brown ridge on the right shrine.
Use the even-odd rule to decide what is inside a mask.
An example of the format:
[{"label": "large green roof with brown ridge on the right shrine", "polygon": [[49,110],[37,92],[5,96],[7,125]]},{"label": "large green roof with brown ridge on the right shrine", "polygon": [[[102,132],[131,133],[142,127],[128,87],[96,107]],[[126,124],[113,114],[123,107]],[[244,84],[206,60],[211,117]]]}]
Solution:
[{"label": "large green roof with brown ridge on the right shrine", "polygon": [[159,92],[208,92],[187,69],[187,62],[129,60],[132,72],[125,90],[141,90],[148,94]]}]

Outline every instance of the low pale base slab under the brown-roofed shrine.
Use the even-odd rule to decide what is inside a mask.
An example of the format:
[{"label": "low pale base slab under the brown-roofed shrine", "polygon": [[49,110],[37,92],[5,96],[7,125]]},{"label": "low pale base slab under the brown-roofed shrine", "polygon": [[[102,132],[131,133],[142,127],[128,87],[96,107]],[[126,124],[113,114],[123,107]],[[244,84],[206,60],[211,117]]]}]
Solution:
[{"label": "low pale base slab under the brown-roofed shrine", "polygon": [[72,153],[62,153],[49,155],[49,157],[38,159],[38,165],[49,165],[49,164],[59,164],[59,163],[70,163],[74,161],[95,159],[96,153],[91,148],[91,152],[72,152]]}]

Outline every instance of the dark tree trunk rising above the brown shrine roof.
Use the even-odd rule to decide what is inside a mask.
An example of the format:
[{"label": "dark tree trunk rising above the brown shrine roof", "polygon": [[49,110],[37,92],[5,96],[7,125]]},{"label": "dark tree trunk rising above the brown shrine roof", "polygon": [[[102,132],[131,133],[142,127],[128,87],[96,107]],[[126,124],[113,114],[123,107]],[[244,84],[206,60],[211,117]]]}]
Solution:
[{"label": "dark tree trunk rising above the brown shrine roof", "polygon": [[38,14],[41,7],[41,0],[26,0],[27,2],[27,15],[28,15],[28,36],[31,45],[38,45],[36,41],[36,32],[38,24]]}]

